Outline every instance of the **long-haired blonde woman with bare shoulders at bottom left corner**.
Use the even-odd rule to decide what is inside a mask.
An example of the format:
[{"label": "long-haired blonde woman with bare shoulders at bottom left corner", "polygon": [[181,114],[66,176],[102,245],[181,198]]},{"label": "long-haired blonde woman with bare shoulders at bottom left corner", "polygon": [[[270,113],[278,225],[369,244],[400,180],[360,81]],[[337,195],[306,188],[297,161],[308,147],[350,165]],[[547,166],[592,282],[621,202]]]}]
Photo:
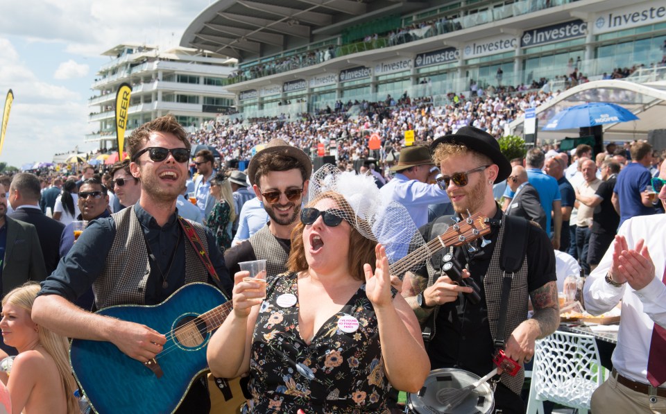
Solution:
[{"label": "long-haired blonde woman with bare shoulders at bottom left corner", "polygon": [[67,338],[37,325],[30,316],[39,291],[39,284],[28,283],[3,297],[0,329],[5,343],[19,354],[11,374],[1,379],[10,393],[12,413],[78,414]]}]

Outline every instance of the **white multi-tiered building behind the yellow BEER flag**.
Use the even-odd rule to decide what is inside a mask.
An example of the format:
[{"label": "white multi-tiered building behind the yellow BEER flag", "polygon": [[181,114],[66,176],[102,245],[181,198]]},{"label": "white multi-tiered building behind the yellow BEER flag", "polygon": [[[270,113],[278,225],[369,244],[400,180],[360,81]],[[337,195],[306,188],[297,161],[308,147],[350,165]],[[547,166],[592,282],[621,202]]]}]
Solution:
[{"label": "white multi-tiered building behind the yellow BEER flag", "polygon": [[217,114],[234,110],[234,93],[223,85],[235,59],[196,49],[160,51],[139,44],[119,44],[102,55],[112,60],[97,72],[96,91],[88,101],[92,134],[85,142],[99,148],[116,146],[116,92],[122,83],[132,87],[126,136],[146,121],[173,114],[183,126],[198,127]]}]

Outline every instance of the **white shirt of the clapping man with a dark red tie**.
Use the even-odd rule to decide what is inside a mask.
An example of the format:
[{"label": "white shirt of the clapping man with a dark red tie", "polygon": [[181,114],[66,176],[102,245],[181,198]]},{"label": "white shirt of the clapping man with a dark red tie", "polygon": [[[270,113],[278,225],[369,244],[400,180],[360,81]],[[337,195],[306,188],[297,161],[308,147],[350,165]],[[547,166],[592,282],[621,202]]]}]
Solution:
[{"label": "white shirt of the clapping man with a dark red tie", "polygon": [[[645,239],[655,266],[655,277],[647,286],[634,291],[629,284],[615,288],[604,277],[613,261],[613,245],[606,251],[599,267],[586,280],[583,287],[586,310],[599,315],[613,309],[622,300],[622,319],[613,352],[613,367],[623,377],[640,383],[647,381],[647,357],[650,352],[652,327],[658,323],[666,327],[666,284],[662,282],[666,267],[666,215],[637,216],[622,223],[617,234],[626,238],[629,248]],[[662,384],[661,388],[666,388]]]}]

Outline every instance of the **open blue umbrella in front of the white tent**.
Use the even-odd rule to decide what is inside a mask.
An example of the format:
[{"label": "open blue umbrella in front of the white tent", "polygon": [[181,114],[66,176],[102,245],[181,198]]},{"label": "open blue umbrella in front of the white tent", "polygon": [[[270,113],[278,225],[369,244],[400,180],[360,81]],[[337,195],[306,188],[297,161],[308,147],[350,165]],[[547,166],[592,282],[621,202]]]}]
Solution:
[{"label": "open blue umbrella in front of the white tent", "polygon": [[556,114],[543,128],[545,131],[569,130],[597,126],[604,123],[634,121],[631,111],[615,103],[592,102],[569,107]]}]

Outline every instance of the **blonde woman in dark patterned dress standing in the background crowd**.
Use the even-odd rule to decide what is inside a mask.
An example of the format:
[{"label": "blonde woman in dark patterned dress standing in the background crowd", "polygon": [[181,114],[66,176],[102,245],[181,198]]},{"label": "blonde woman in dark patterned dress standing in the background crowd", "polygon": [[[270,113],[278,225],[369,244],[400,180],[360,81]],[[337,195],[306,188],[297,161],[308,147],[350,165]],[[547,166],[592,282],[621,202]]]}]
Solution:
[{"label": "blonde woman in dark patterned dress standing in the background crowd", "polygon": [[213,230],[217,246],[224,252],[231,247],[231,226],[236,219],[236,209],[231,183],[223,173],[218,173],[210,180],[210,196],[216,202],[206,217],[206,226]]}]

